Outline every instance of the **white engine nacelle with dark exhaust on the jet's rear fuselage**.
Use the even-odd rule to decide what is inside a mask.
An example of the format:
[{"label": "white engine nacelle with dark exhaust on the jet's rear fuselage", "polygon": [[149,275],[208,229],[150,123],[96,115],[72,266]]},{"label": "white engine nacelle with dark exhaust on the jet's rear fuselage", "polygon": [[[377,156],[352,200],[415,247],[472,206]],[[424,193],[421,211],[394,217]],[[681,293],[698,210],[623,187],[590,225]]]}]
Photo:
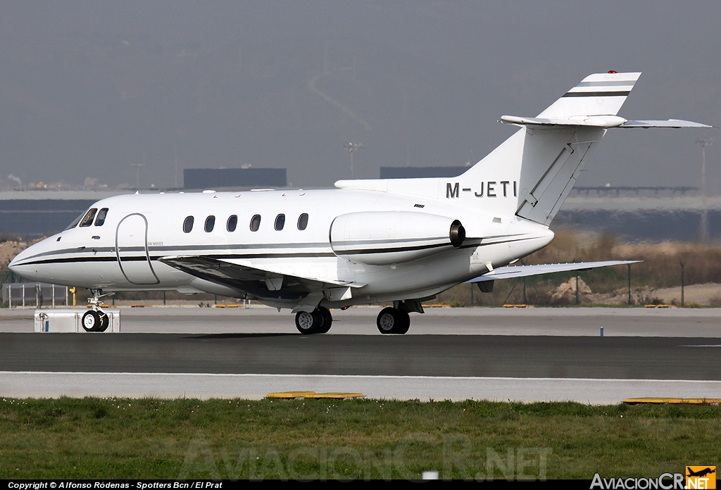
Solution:
[{"label": "white engine nacelle with dark exhaust on the jet's rear fuselage", "polygon": [[333,252],[355,264],[400,264],[458,248],[466,239],[459,220],[410,211],[340,215],[330,225]]}]

